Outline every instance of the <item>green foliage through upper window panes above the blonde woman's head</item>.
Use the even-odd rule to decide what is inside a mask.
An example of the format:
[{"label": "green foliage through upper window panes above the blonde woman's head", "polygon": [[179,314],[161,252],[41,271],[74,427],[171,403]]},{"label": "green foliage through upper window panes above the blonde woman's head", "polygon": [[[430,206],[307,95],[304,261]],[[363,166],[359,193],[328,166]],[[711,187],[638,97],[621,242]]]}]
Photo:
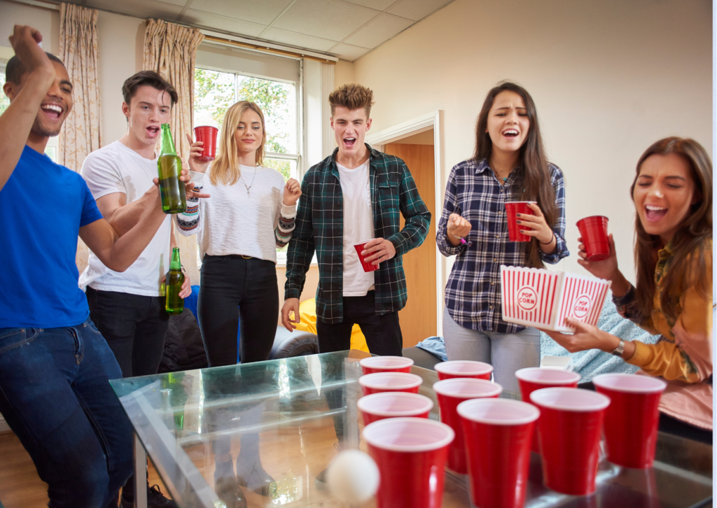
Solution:
[{"label": "green foliage through upper window panes above the blonde woman's head", "polygon": [[234,75],[206,69],[194,70],[194,110],[209,111],[221,126],[224,115],[237,100],[256,102],[264,112],[267,128],[265,150],[288,153],[288,132],[285,122],[289,118],[289,92],[291,85],[261,80],[256,77],[239,77],[239,88],[234,95]]}]

